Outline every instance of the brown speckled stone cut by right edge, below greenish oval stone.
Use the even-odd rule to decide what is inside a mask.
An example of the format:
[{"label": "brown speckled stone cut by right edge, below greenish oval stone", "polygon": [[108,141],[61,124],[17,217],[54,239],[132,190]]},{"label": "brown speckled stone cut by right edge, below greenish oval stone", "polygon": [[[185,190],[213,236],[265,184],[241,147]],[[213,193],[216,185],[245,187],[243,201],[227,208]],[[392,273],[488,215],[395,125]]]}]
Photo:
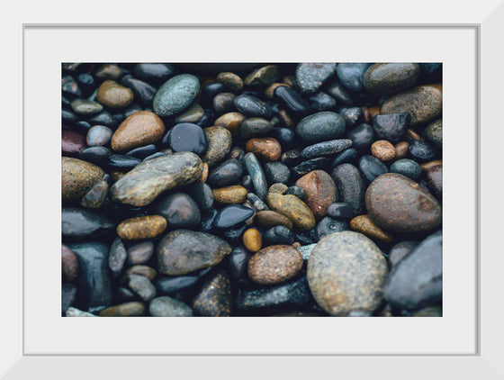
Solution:
[{"label": "brown speckled stone cut by right edge, below greenish oval stone", "polygon": [[411,125],[415,126],[436,120],[442,109],[442,91],[434,86],[417,86],[385,100],[381,113],[410,113]]}]

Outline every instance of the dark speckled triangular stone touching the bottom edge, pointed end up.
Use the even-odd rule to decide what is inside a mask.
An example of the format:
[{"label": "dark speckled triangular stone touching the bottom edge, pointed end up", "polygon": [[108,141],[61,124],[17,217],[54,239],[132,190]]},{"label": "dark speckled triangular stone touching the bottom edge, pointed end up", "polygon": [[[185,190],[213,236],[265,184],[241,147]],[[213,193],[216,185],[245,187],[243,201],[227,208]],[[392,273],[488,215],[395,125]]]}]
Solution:
[{"label": "dark speckled triangular stone touching the bottom edge, pointed end up", "polygon": [[224,270],[218,271],[202,285],[193,298],[194,315],[204,317],[229,317],[231,313],[231,284]]}]

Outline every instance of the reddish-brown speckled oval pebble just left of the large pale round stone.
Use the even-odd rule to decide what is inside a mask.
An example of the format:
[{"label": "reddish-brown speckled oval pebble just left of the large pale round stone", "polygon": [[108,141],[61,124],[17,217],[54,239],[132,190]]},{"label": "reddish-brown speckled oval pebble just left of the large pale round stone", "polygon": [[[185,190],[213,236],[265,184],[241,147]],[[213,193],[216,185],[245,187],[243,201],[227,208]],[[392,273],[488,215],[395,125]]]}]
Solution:
[{"label": "reddish-brown speckled oval pebble just left of the large pale round stone", "polygon": [[277,285],[300,273],[302,256],[288,245],[269,246],[248,260],[248,277],[256,284]]}]

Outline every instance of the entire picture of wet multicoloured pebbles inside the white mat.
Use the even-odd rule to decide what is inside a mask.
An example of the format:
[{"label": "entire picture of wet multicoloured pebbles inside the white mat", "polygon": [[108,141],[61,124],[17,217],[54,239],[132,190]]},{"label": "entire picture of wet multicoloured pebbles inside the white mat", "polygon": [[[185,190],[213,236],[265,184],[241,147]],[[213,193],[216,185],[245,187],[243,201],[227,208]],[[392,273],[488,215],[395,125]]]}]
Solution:
[{"label": "entire picture of wet multicoloured pebbles inside the white mat", "polygon": [[61,314],[442,316],[440,63],[63,63]]}]

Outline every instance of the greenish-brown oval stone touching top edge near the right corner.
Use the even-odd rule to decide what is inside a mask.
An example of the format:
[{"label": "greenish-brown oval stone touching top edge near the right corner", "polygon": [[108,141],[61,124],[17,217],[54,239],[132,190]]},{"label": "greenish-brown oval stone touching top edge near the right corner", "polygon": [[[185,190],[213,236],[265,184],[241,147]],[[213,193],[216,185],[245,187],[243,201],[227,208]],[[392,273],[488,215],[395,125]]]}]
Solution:
[{"label": "greenish-brown oval stone touching top edge near the right corner", "polygon": [[417,63],[375,63],[367,69],[363,84],[373,95],[386,95],[414,86],[419,80]]}]

